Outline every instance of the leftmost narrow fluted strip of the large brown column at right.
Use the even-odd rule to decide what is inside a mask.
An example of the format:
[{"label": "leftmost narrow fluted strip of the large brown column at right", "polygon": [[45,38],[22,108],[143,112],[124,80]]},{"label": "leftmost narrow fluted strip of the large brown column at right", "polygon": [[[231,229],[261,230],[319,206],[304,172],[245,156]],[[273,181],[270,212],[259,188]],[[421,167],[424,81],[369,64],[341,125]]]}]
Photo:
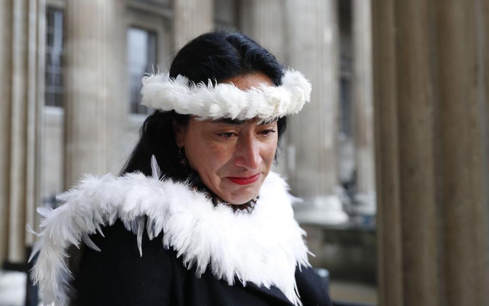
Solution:
[{"label": "leftmost narrow fluted strip of the large brown column at right", "polygon": [[398,107],[392,102],[397,98],[393,81],[396,80],[394,1],[372,1],[379,306],[407,306],[403,301],[402,279]]}]

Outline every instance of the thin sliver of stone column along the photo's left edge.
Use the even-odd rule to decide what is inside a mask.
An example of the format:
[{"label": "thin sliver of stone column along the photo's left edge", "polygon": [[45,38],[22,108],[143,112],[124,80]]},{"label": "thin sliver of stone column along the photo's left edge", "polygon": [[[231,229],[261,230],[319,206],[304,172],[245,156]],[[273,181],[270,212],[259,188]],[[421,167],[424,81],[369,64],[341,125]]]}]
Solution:
[{"label": "thin sliver of stone column along the photo's left edge", "polygon": [[9,242],[10,118],[12,75],[12,1],[0,2],[0,264]]}]

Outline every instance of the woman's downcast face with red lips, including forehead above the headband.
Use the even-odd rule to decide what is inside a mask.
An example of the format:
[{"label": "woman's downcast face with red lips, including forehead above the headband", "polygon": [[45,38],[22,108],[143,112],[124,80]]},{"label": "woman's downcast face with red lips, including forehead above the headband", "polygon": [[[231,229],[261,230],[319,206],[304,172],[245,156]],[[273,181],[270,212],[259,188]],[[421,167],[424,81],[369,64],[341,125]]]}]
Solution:
[{"label": "woman's downcast face with red lips, including forehead above the headband", "polygon": [[[264,74],[234,77],[241,90],[273,86]],[[184,147],[189,165],[203,183],[231,204],[251,200],[270,171],[277,150],[277,120],[257,125],[257,120],[235,122],[229,119],[198,121],[194,117],[185,127],[175,127],[179,147]]]}]

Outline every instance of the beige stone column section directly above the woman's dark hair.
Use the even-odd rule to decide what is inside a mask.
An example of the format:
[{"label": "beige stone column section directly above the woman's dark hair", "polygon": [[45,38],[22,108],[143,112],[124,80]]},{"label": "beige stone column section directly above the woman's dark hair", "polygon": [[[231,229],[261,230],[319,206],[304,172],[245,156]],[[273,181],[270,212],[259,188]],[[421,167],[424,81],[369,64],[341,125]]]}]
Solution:
[{"label": "beige stone column section directly above the woman's dark hair", "polygon": [[175,0],[173,2],[175,51],[189,40],[214,28],[213,0]]}]

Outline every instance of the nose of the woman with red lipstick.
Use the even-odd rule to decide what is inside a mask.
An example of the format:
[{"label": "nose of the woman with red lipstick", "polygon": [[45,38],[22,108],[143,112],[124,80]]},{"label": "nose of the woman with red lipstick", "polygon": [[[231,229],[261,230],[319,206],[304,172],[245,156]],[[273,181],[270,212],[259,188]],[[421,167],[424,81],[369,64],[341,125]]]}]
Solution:
[{"label": "nose of the woman with red lipstick", "polygon": [[239,137],[236,142],[234,165],[247,170],[256,170],[260,167],[260,146],[254,137]]}]

